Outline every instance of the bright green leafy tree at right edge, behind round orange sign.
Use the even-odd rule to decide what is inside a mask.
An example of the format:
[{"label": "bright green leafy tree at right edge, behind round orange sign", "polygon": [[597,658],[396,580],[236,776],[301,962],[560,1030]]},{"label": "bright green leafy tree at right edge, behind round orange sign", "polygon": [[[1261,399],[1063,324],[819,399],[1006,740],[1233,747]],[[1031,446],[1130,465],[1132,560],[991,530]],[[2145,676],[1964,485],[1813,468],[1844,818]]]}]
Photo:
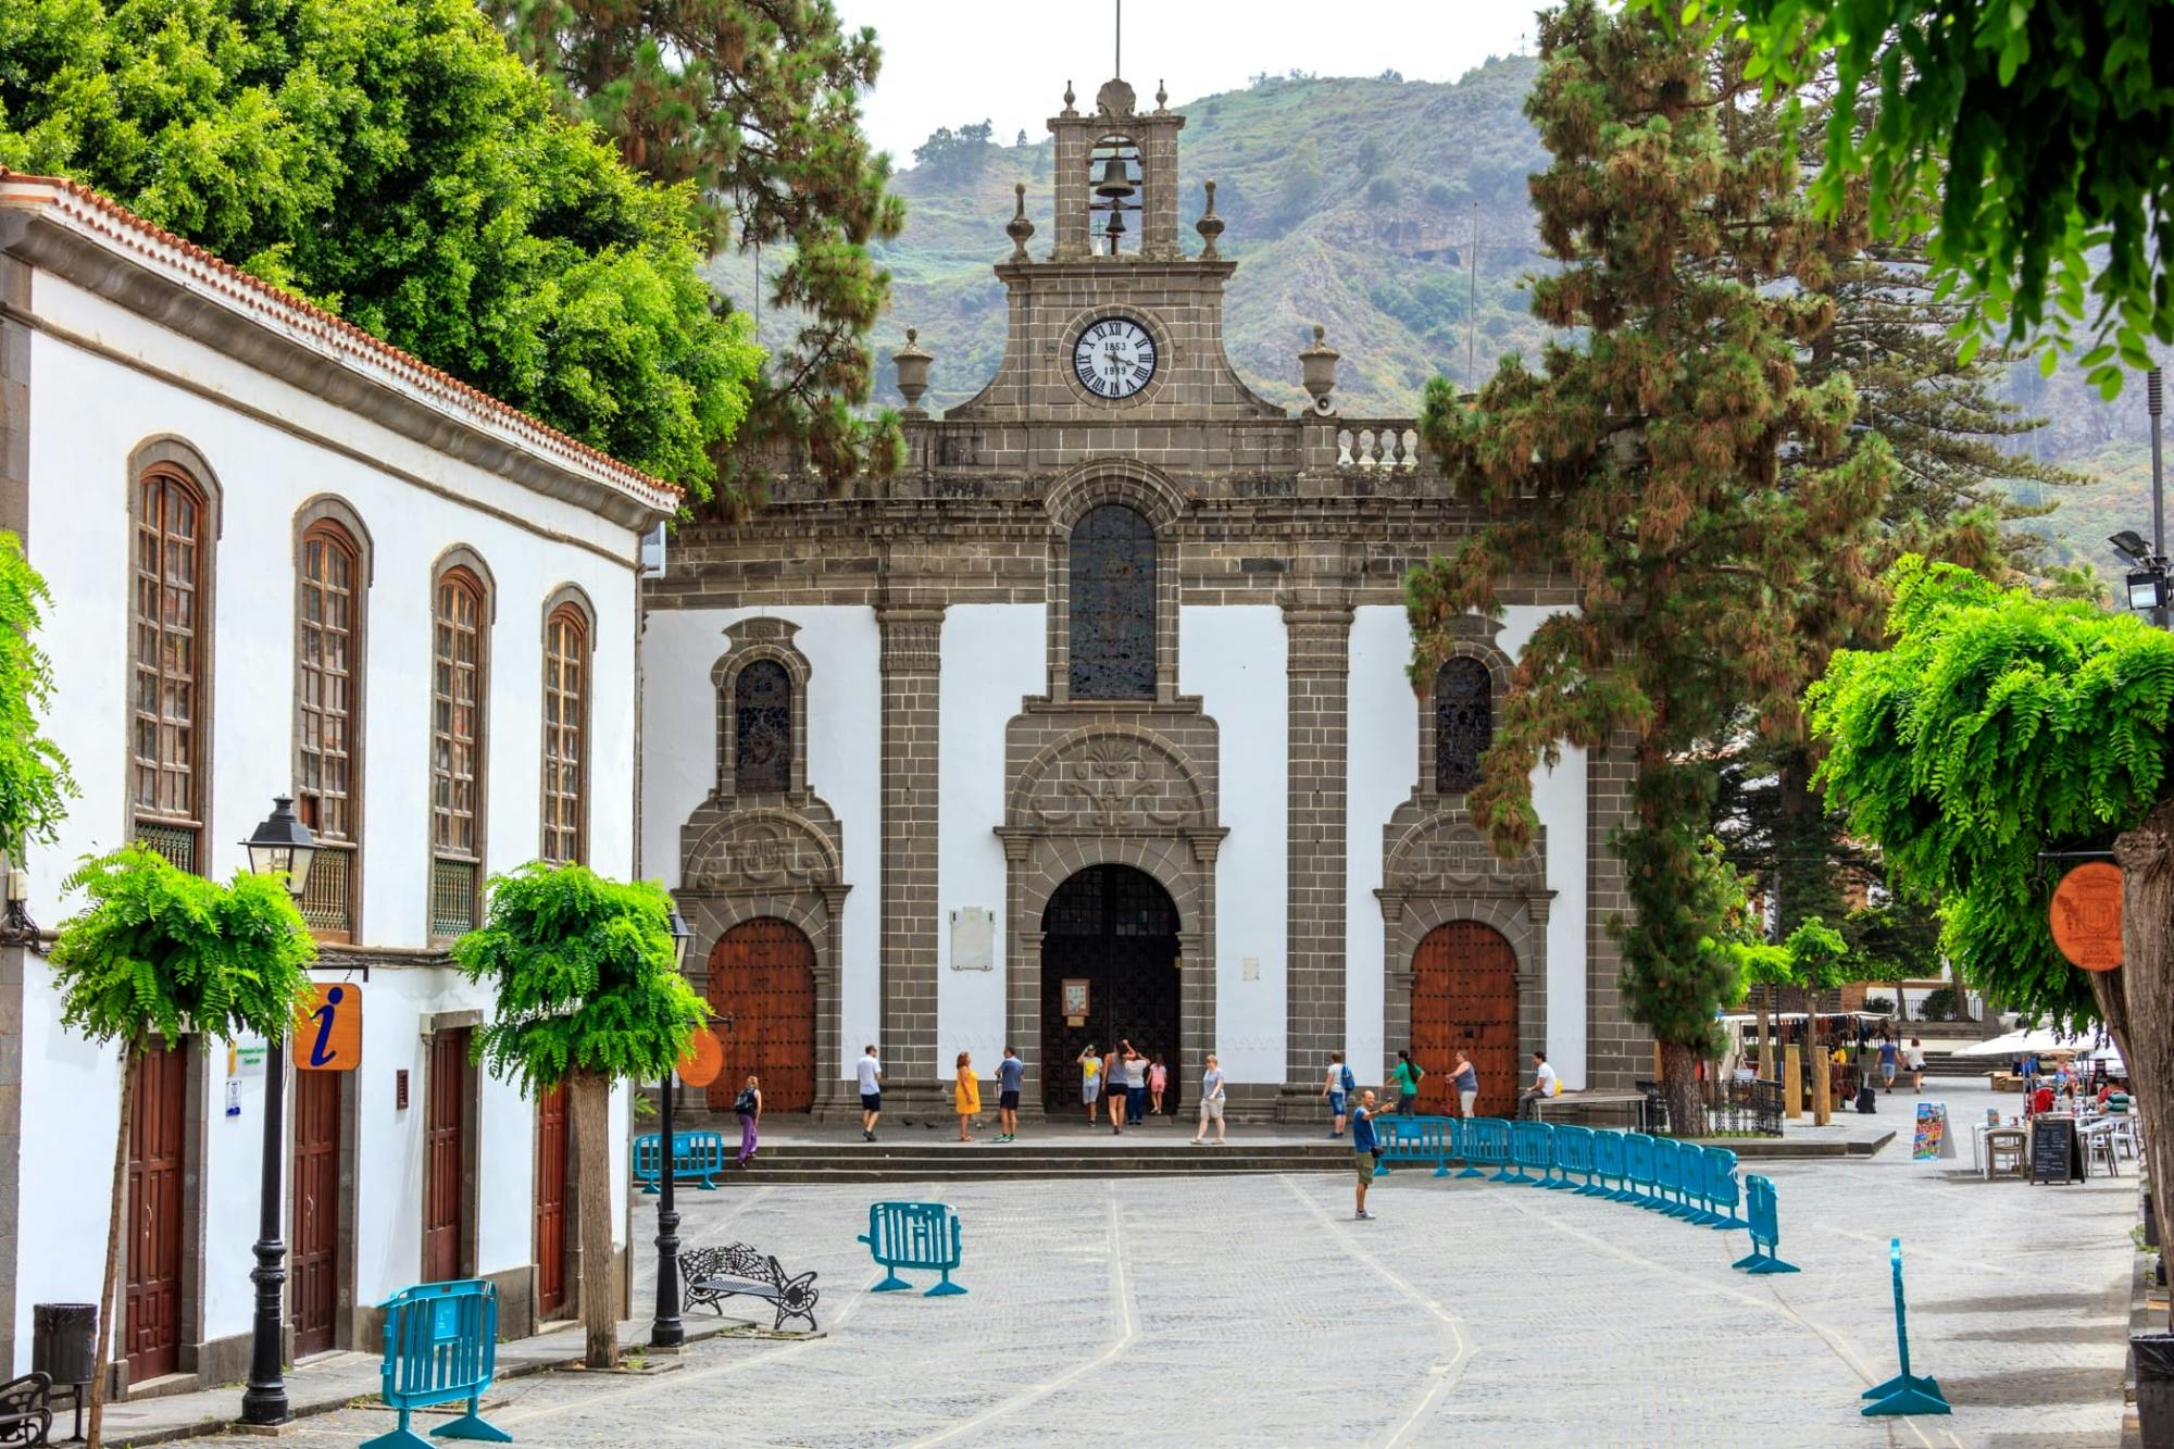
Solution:
[{"label": "bright green leafy tree at right edge, behind round orange sign", "polygon": [[[1920,557],[1889,583],[1891,646],[1837,653],[1809,694],[1820,781],[1904,888],[1939,896],[1965,981],[2107,1023],[2174,1234],[2174,635]],[[2122,966],[2085,973],[2052,944],[2046,855],[2104,849]]]}]

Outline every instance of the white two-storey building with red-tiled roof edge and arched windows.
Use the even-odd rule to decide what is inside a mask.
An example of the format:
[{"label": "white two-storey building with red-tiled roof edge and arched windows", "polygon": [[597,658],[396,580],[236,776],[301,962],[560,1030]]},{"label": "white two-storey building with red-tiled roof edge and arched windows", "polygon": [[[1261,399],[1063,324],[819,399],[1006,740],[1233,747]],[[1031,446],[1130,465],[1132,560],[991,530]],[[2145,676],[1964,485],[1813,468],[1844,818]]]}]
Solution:
[{"label": "white two-storey building with red-tiled roof edge and arched windows", "polygon": [[[489,872],[635,875],[637,555],[676,503],[93,194],[0,172],[0,527],[52,585],[48,733],[80,783],[22,862],[28,912],[50,931],[72,864],[128,838],[224,879],[278,794],[330,846],[304,912],[317,979],[363,992],[363,1064],[289,1073],[293,1353],[372,1351],[372,1305],[424,1279],[493,1279],[507,1336],[576,1312],[563,1107],[467,1064],[489,1001],[443,946]],[[185,1040],[143,1073],[126,1392],[246,1373],[252,1055]],[[117,1105],[117,1053],[59,1027],[35,942],[0,951],[17,1373],[33,1303],[98,1297]]]}]

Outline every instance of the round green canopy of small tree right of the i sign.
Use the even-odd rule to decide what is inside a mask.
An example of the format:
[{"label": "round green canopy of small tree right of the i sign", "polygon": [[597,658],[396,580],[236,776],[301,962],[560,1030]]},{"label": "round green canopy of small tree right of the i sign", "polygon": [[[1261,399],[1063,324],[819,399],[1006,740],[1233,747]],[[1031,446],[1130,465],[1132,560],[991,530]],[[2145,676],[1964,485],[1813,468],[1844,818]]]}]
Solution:
[{"label": "round green canopy of small tree right of the i sign", "polygon": [[672,896],[654,881],[528,862],[491,881],[489,914],[452,959],[496,988],[476,1049],[524,1092],[574,1070],[663,1077],[707,1018],[674,959]]}]

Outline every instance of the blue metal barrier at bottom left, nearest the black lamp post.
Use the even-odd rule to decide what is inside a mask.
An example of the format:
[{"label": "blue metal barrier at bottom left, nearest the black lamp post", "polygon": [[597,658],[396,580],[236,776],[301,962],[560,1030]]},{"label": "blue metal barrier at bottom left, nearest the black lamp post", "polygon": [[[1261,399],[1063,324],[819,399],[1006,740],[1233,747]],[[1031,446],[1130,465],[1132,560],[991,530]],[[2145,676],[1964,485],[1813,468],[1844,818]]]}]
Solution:
[{"label": "blue metal barrier at bottom left, nearest the black lamp post", "polygon": [[400,1425],[365,1440],[361,1449],[428,1449],[430,1440],[409,1427],[409,1414],[461,1399],[467,1399],[467,1412],[430,1429],[435,1438],[511,1445],[511,1434],[476,1412],[498,1371],[496,1284],[480,1277],[420,1284],[402,1288],[383,1308],[385,1364],[378,1371],[378,1392],[400,1410]]}]

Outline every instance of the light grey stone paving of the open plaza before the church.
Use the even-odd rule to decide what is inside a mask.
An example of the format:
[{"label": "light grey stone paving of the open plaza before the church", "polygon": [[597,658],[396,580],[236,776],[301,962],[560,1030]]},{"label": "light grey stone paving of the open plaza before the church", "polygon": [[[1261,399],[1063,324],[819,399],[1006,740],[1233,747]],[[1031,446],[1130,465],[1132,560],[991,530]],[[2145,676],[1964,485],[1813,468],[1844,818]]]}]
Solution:
[{"label": "light grey stone paving of the open plaza before the church", "polygon": [[[1957,1120],[1996,1101],[1944,1097]],[[822,1273],[828,1336],[711,1340],[644,1379],[517,1379],[491,1419],[522,1445],[2120,1440],[2133,1175],[1983,1184],[1967,1138],[1913,1164],[1904,1129],[1870,1162],[1770,1177],[1804,1271],[1767,1279],[1728,1268],[1744,1234],[1424,1171],[1374,1188],[1374,1223],[1350,1221],[1348,1175],[930,1186],[965,1221],[957,1299],[865,1292],[867,1188],[689,1194],[691,1242],[750,1238]],[[1913,1366],[1952,1419],[1857,1412],[1896,1371],[1889,1234]],[[346,1410],[289,1438],[385,1423]]]}]

